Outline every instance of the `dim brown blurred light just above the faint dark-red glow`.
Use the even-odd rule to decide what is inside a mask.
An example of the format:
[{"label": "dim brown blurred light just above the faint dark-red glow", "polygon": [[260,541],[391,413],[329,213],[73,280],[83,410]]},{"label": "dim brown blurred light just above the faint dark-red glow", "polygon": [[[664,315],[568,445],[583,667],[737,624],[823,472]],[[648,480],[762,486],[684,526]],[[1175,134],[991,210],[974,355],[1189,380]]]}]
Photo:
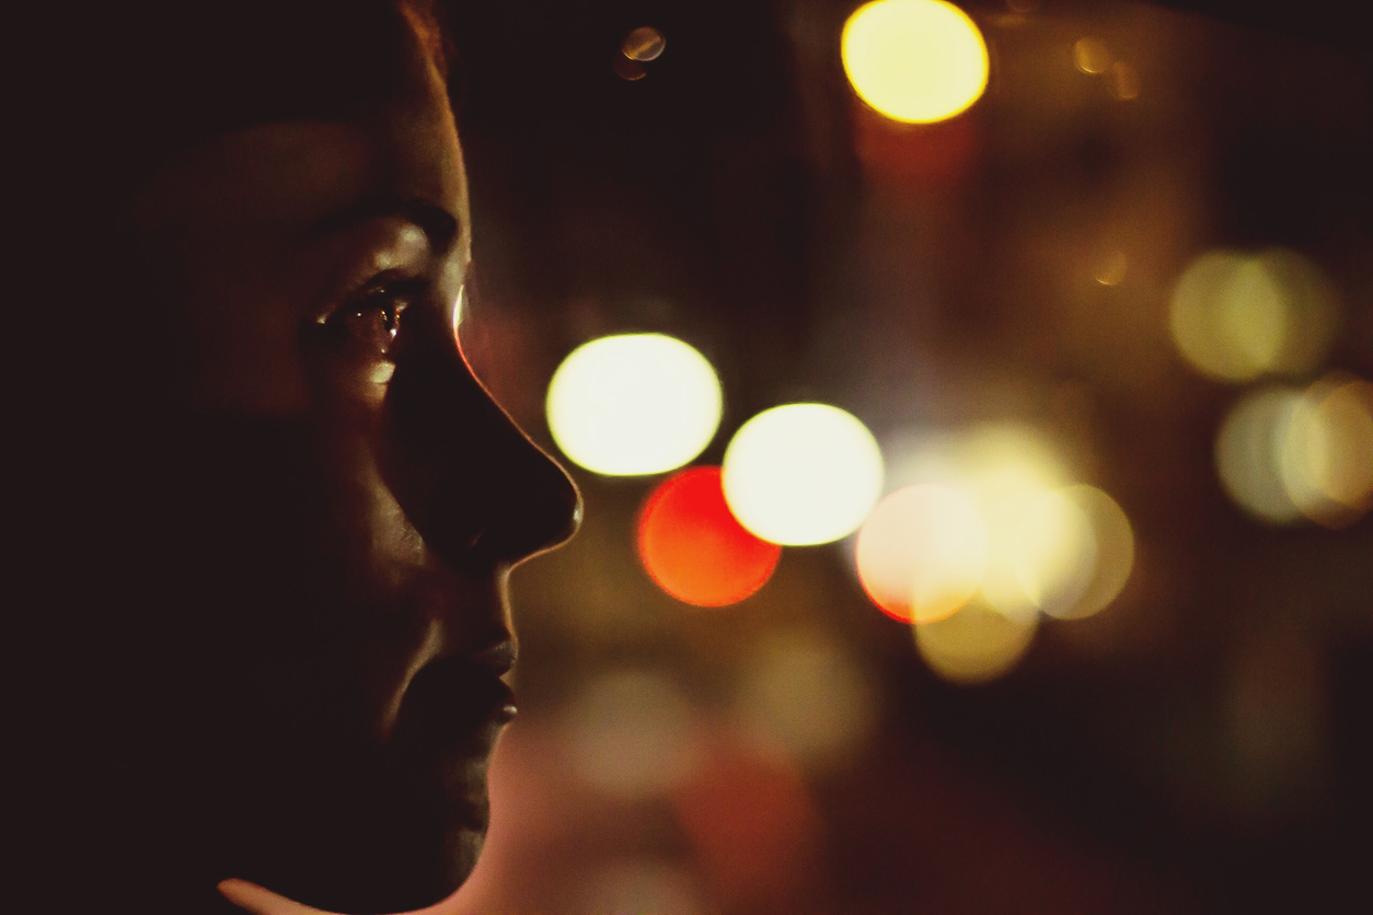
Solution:
[{"label": "dim brown blurred light just above the faint dark-red glow", "polygon": [[803,770],[851,759],[877,720],[870,675],[832,637],[794,630],[769,635],[739,690],[746,730],[780,746]]}]

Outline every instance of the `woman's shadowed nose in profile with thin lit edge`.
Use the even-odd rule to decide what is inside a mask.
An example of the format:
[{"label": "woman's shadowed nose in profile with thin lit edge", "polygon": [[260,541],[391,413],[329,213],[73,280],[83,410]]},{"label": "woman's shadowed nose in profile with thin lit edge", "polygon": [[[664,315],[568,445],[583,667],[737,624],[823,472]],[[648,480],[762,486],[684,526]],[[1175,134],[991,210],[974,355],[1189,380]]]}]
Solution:
[{"label": "woman's shadowed nose in profile with thin lit edge", "polygon": [[581,521],[571,479],[492,399],[439,313],[411,311],[382,432],[383,475],[411,523],[479,573],[567,540]]}]

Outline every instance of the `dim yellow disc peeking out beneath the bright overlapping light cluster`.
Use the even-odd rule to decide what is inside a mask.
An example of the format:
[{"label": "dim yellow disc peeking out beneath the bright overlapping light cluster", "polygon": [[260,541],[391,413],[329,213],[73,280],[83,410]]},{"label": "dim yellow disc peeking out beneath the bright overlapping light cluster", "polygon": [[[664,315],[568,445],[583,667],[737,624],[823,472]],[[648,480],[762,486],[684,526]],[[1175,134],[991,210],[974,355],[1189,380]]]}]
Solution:
[{"label": "dim yellow disc peeking out beneath the bright overlapping light cluster", "polygon": [[953,616],[916,624],[916,649],[942,679],[984,683],[1009,672],[1024,657],[1038,627],[1038,616],[1012,619],[973,601]]}]

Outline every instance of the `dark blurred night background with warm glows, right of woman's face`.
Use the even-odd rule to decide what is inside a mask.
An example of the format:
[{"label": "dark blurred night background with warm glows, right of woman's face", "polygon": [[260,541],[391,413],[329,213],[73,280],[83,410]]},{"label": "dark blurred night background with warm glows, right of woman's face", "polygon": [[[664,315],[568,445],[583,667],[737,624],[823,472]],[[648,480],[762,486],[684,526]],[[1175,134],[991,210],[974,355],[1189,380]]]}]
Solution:
[{"label": "dark blurred night background with warm glows, right of woman's face", "polygon": [[[486,856],[439,911],[1368,905],[1373,108],[1351,14],[961,4],[986,92],[909,125],[846,78],[854,3],[446,5],[463,344],[585,523],[512,578],[520,719]],[[632,60],[644,26],[662,54]],[[1179,289],[1216,251],[1287,291],[1281,339],[1245,336],[1234,294],[1207,325],[1229,331],[1189,343]],[[990,442],[1119,505],[1123,589],[1085,619],[1031,609],[971,674],[875,606],[851,535],[784,546],[737,602],[670,597],[636,531],[671,473],[577,466],[545,414],[564,357],[630,332],[718,373],[693,466],[794,402],[870,429],[883,494]],[[1315,497],[1263,450],[1278,414],[1336,417]],[[957,613],[995,612],[979,599]]]}]

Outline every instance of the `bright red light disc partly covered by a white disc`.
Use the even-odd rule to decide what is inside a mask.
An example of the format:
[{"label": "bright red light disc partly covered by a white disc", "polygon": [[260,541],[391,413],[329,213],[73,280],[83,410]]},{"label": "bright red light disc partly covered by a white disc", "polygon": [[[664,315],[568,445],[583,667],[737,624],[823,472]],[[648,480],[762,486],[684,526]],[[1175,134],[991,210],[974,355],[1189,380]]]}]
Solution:
[{"label": "bright red light disc partly covered by a white disc", "polygon": [[750,534],[725,505],[717,466],[692,468],[659,484],[638,517],[638,558],[678,601],[736,604],[761,589],[781,547]]}]

